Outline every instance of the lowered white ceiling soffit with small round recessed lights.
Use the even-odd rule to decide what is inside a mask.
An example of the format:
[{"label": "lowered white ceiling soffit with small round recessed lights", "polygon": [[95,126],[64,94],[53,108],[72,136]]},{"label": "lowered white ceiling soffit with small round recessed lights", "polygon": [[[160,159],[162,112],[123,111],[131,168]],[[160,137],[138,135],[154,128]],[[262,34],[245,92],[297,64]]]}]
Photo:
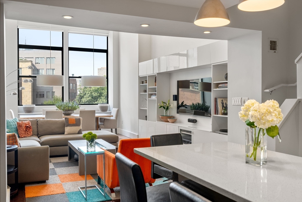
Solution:
[{"label": "lowered white ceiling soffit with small round recessed lights", "polygon": [[[16,0],[3,1],[5,18],[138,34],[228,40],[254,30],[194,25],[198,8],[148,1]],[[120,14],[122,13],[122,14]],[[64,19],[72,15],[73,19]],[[140,24],[149,24],[143,28]],[[210,30],[210,34],[203,31]]]}]

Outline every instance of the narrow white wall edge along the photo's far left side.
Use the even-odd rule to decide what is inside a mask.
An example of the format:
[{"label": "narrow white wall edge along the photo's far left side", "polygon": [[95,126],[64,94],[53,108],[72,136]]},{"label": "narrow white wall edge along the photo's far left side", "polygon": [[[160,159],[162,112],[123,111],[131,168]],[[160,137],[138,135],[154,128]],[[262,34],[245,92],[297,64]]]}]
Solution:
[{"label": "narrow white wall edge along the photo's far left side", "polygon": [[6,201],[6,115],[5,115],[5,14],[4,5],[0,3],[0,201]]}]

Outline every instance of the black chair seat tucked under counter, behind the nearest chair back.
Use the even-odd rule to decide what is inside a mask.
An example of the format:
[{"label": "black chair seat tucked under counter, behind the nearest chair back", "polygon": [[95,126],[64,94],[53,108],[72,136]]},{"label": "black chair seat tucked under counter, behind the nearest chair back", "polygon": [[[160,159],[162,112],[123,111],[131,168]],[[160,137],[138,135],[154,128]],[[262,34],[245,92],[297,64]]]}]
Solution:
[{"label": "black chair seat tucked under counter, behind the nearest chair back", "polygon": [[194,182],[193,180],[182,181],[182,185],[184,185],[188,189],[196,192],[197,194],[204,196],[205,198],[209,199],[210,201],[234,202],[234,200],[232,200],[226,196],[223,196],[222,194],[220,194],[214,190],[211,190],[201,184],[198,184],[197,182]]}]

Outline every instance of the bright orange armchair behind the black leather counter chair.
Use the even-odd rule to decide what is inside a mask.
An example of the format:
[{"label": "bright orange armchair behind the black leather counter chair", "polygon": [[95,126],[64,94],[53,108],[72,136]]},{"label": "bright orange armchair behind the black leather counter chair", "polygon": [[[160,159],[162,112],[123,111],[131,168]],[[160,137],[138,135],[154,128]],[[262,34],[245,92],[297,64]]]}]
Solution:
[{"label": "bright orange armchair behind the black leather counter chair", "polygon": [[[117,152],[120,152],[130,160],[139,164],[145,183],[154,183],[155,180],[151,178],[151,161],[134,153],[134,148],[151,147],[150,138],[135,138],[135,139],[122,139],[119,142]],[[103,174],[103,156],[97,155],[97,172],[98,172],[98,184],[101,183],[101,179],[104,179]],[[115,197],[113,188],[119,187],[117,166],[115,161],[115,154],[105,150],[105,184],[111,191],[111,196]]]}]

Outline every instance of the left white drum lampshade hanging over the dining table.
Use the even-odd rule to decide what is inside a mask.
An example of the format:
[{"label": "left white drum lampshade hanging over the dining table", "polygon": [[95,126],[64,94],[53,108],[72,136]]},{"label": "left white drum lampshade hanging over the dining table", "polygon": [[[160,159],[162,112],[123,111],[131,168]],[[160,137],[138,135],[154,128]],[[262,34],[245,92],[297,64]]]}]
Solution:
[{"label": "left white drum lampshade hanging over the dining table", "polygon": [[37,86],[64,86],[64,75],[37,75]]}]

